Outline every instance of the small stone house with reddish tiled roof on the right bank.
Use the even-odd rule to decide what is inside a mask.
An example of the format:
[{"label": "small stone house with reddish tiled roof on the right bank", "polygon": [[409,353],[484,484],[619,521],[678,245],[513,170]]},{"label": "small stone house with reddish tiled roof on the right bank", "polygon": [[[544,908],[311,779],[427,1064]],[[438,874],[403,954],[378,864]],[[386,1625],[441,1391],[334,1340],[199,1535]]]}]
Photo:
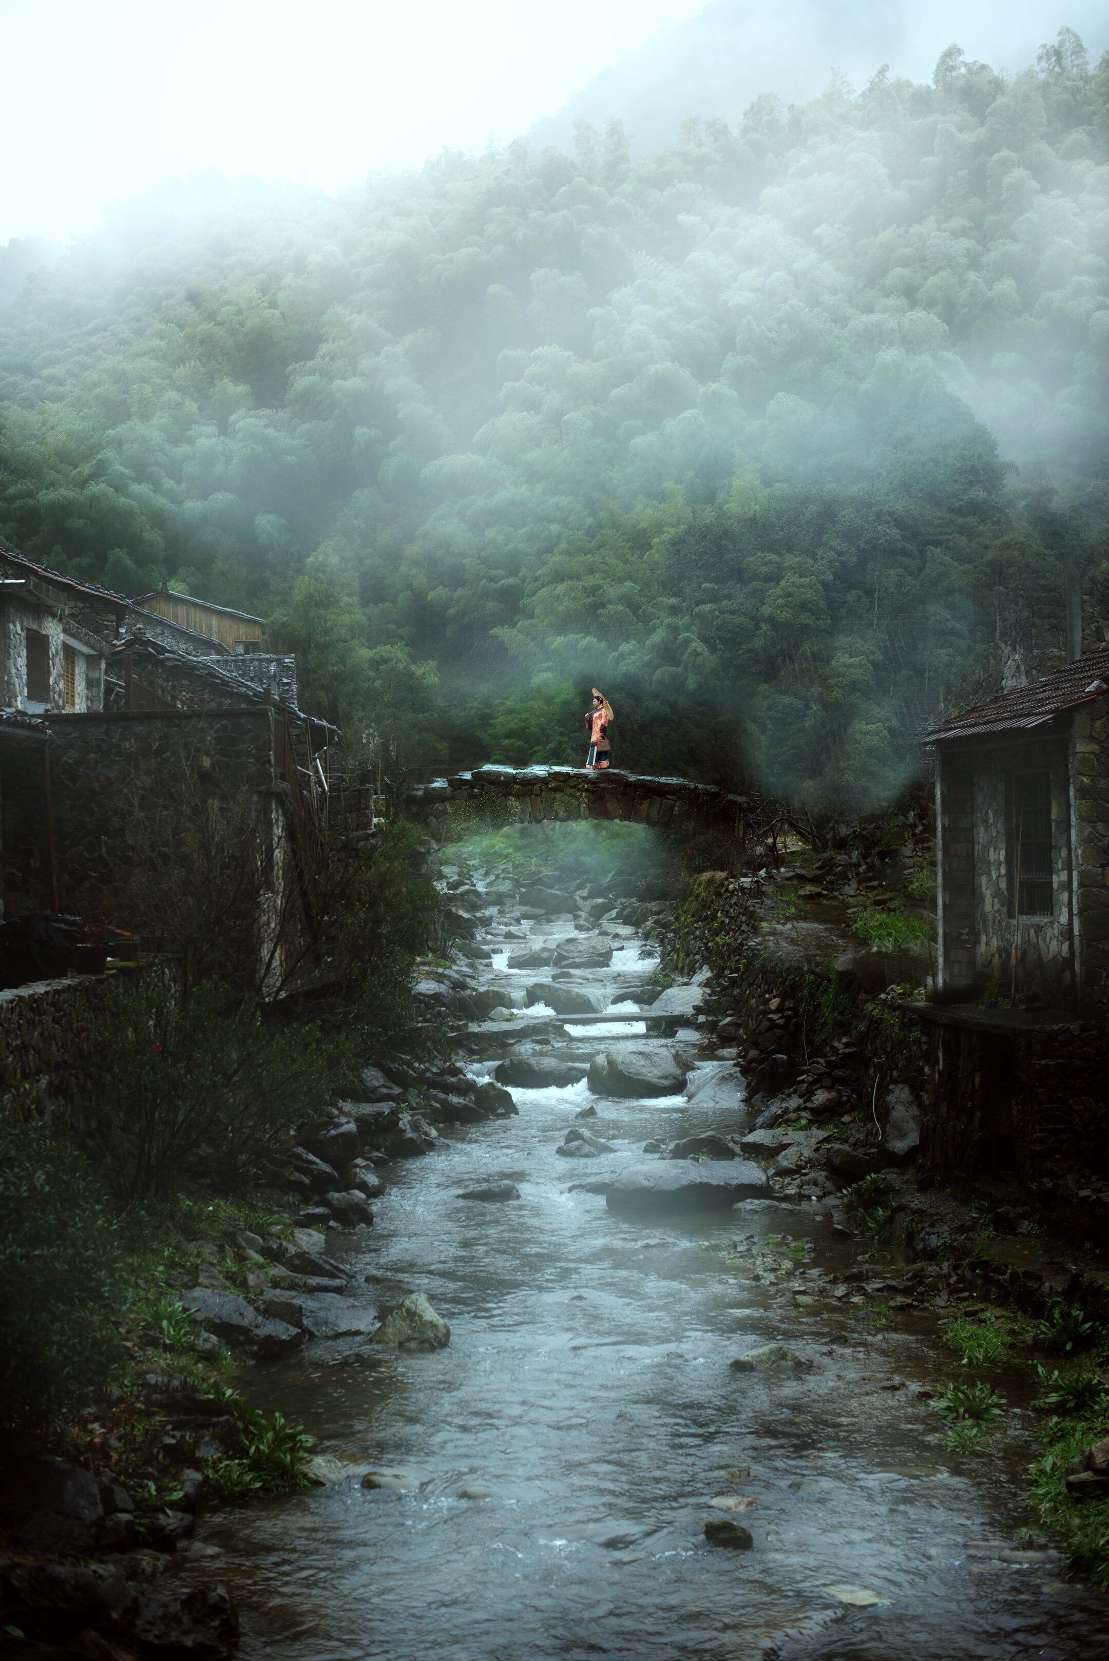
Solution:
[{"label": "small stone house with reddish tiled roof on the right bank", "polygon": [[[921,1146],[1054,1181],[1109,1164],[1109,648],[951,716]],[[1054,1174],[1052,1174],[1054,1173]]]}]

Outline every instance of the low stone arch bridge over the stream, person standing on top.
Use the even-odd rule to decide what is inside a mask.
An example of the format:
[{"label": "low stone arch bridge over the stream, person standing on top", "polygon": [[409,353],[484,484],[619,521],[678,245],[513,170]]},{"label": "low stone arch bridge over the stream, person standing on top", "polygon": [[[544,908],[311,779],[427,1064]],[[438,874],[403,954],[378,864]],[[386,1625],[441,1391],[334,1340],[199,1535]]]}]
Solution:
[{"label": "low stone arch bridge over the stream, person standing on top", "polygon": [[713,784],[688,779],[650,779],[617,767],[589,772],[584,767],[477,767],[404,792],[404,817],[432,835],[446,829],[452,804],[481,807],[514,804],[522,824],[567,819],[622,819],[660,829],[707,829],[742,835],[748,799]]}]

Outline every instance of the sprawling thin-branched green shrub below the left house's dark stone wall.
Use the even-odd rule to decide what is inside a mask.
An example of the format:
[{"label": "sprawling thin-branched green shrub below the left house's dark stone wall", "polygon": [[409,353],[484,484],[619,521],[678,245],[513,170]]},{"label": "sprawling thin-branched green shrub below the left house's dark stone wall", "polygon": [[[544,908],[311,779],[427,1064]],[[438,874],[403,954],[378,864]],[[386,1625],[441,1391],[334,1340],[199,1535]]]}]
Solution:
[{"label": "sprawling thin-branched green shrub below the left house's dark stone wall", "polygon": [[314,1026],[273,1033],[216,982],[188,1003],[165,987],[116,988],[90,1061],[93,1141],[125,1206],[190,1173],[243,1181],[293,1124],[329,1111],[338,1081]]}]

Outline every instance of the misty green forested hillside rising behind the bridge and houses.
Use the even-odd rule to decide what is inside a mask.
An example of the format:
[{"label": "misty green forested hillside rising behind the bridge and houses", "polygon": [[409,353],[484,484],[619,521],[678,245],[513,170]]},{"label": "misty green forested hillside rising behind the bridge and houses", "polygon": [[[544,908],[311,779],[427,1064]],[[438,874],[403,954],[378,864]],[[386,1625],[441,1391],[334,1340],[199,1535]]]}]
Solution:
[{"label": "misty green forested hillside rising behind the bridge and houses", "polygon": [[1109,66],[958,50],[632,163],[444,154],[0,251],[0,541],[274,618],[412,769],[865,802],[1106,560]]}]

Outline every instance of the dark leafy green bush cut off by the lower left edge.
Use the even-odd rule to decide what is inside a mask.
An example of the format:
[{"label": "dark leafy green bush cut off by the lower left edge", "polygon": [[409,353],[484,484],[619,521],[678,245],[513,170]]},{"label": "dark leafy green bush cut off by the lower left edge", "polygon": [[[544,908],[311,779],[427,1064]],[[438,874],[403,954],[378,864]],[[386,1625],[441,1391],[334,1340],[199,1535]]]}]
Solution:
[{"label": "dark leafy green bush cut off by the lower left edge", "polygon": [[48,1423],[113,1377],[115,1221],[88,1161],[0,1103],[0,1420]]}]

